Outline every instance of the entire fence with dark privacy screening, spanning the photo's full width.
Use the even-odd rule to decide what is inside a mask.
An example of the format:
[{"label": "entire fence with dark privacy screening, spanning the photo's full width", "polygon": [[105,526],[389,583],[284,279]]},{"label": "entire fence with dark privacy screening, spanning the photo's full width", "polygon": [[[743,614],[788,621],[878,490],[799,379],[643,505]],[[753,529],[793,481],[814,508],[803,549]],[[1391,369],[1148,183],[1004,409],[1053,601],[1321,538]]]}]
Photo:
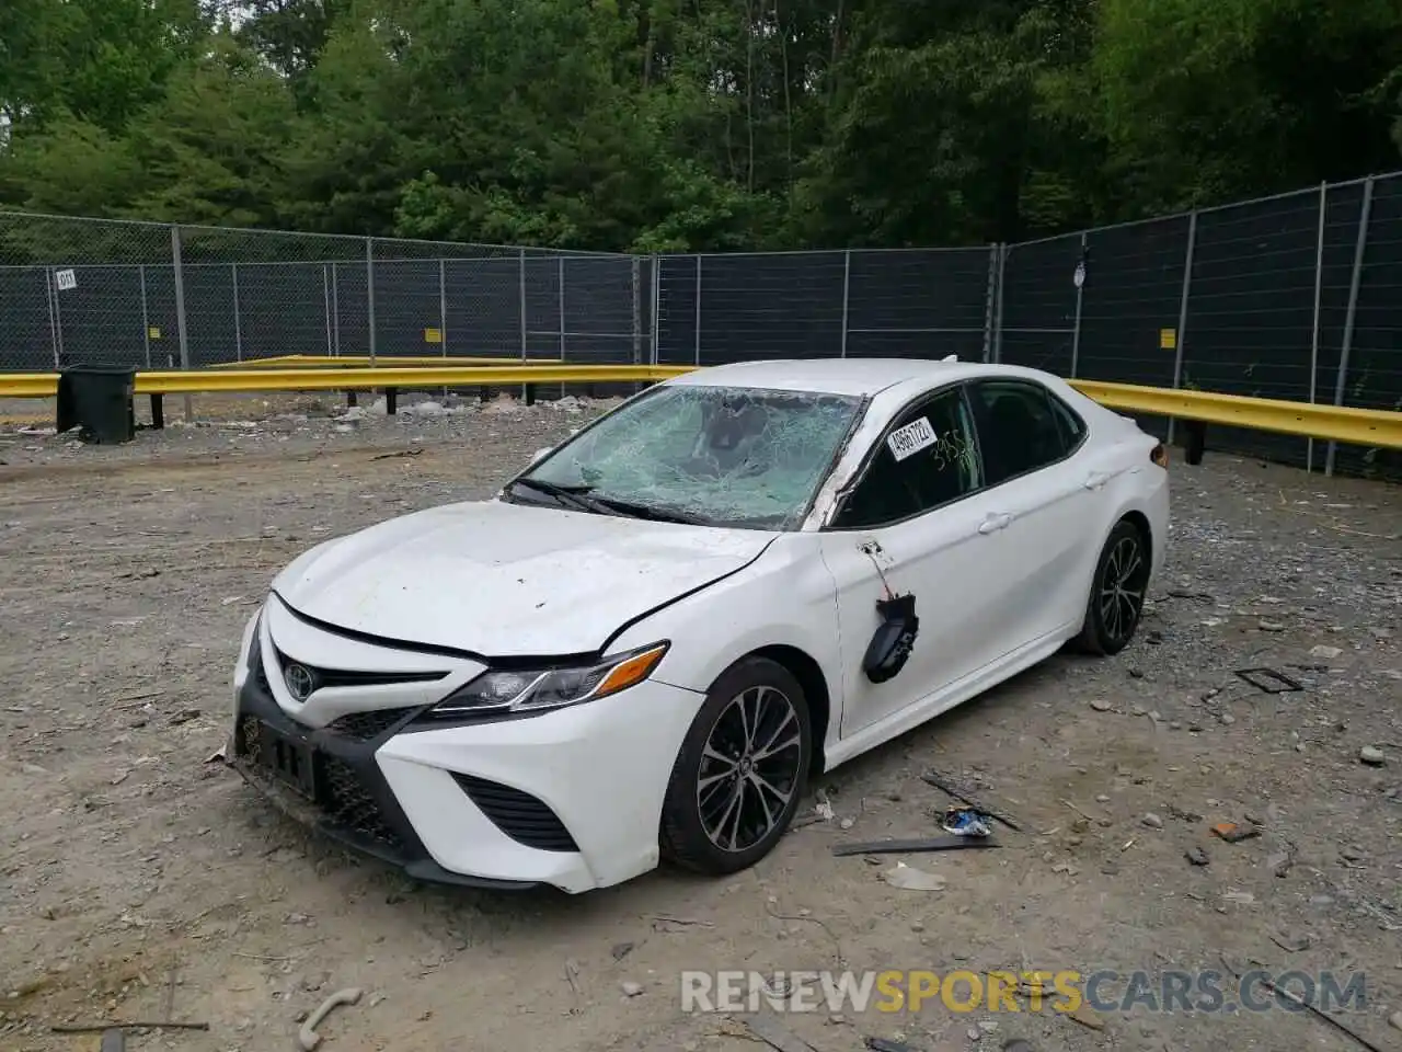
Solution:
[{"label": "entire fence with dark privacy screening, spanning the photo's full width", "polygon": [[[725,255],[0,213],[0,369],[275,355],[958,355],[1402,410],[1402,175],[1012,245]],[[1301,466],[1322,467],[1323,445],[1209,432],[1211,449]],[[1336,463],[1402,478],[1394,450],[1339,449]]]}]

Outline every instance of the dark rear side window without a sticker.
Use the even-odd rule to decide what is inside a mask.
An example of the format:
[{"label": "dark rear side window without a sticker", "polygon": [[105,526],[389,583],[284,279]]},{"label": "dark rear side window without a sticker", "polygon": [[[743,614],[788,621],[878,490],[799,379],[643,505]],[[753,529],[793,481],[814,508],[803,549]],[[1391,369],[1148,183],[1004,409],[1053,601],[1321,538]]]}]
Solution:
[{"label": "dark rear side window without a sticker", "polygon": [[972,386],[970,396],[988,485],[1053,464],[1080,442],[1064,431],[1042,384],[981,380]]}]

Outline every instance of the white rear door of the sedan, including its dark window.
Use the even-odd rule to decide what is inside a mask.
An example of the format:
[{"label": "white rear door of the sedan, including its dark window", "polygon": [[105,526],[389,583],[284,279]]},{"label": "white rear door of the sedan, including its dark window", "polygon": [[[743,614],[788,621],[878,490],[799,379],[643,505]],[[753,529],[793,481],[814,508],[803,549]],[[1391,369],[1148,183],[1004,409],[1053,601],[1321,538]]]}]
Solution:
[{"label": "white rear door of the sedan, including its dark window", "polygon": [[1007,520],[1001,547],[1016,584],[1001,598],[1000,623],[1012,649],[1080,624],[1109,474],[1085,452],[1085,422],[1046,386],[977,380],[969,400],[984,484]]}]

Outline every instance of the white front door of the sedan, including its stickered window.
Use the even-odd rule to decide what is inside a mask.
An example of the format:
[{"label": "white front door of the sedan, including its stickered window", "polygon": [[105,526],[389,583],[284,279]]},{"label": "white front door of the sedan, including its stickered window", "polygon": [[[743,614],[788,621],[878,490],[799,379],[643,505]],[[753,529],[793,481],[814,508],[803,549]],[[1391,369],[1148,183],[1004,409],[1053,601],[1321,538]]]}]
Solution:
[{"label": "white front door of the sedan, including its stickered window", "polygon": [[[1002,522],[983,488],[960,387],[904,410],[887,428],[823,536],[837,588],[844,738],[997,656]],[[878,600],[911,593],[920,633],[904,668],[873,683],[862,658]]]}]

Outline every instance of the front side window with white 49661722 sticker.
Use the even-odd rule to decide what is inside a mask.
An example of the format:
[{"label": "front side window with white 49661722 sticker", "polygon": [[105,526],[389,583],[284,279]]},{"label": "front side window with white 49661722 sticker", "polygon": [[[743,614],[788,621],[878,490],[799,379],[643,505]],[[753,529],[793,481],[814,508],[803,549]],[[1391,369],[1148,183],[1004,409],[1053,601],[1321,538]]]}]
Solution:
[{"label": "front side window with white 49661722 sticker", "polygon": [[887,429],[836,529],[885,526],[927,512],[980,485],[967,403],[956,389],[906,410]]}]

